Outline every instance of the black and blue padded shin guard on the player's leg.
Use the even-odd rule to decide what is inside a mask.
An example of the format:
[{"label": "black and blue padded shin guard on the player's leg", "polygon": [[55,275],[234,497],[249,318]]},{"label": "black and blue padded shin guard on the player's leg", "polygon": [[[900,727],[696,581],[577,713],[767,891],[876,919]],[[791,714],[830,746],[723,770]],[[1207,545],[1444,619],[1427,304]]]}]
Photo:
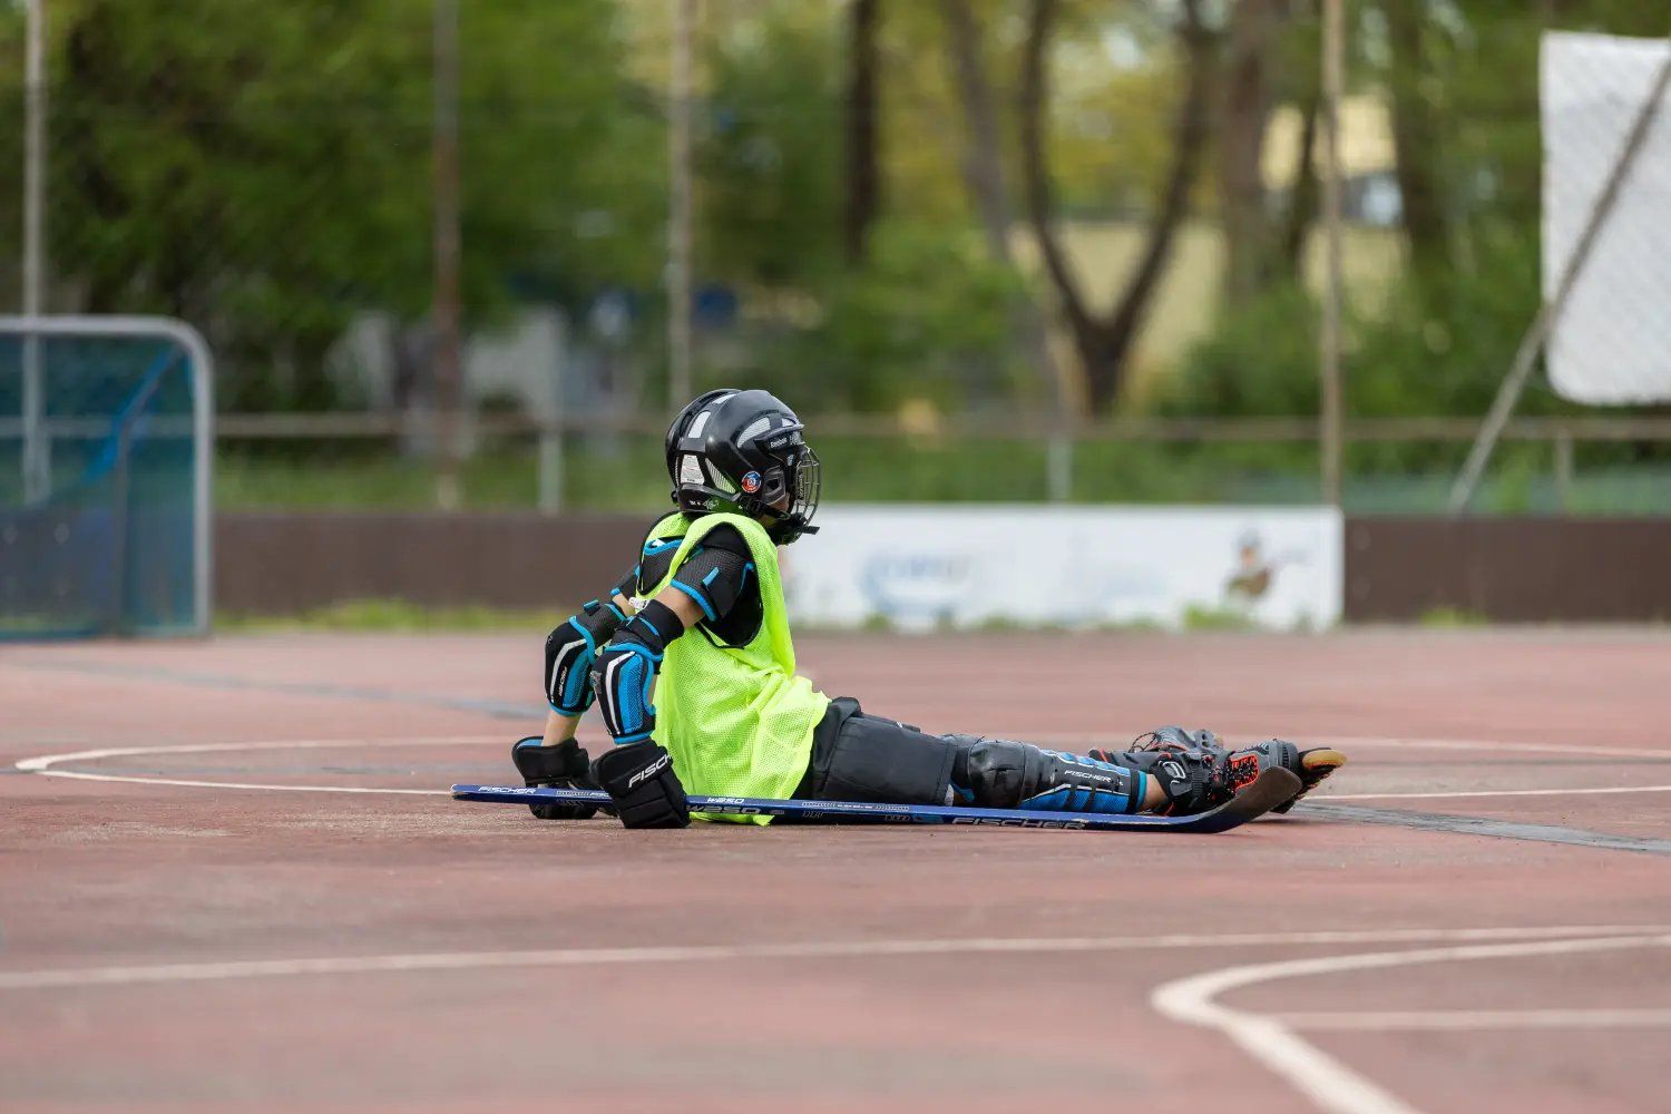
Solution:
[{"label": "black and blue padded shin guard on the player's leg", "polygon": [[951,738],[962,750],[952,780],[979,808],[1126,815],[1143,807],[1148,785],[1138,770],[1033,743]]}]

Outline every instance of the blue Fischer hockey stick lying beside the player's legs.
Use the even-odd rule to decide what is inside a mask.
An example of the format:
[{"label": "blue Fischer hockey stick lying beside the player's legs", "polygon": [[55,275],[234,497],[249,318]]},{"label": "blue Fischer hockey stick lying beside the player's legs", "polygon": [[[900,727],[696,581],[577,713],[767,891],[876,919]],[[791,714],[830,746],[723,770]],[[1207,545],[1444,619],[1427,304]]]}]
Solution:
[{"label": "blue Fischer hockey stick lying beside the player's legs", "polygon": [[[690,812],[729,817],[794,817],[814,823],[952,823],[1001,828],[1073,828],[1081,832],[1215,833],[1242,827],[1300,792],[1300,778],[1267,770],[1223,805],[1193,817],[1111,817],[1091,812],[1021,812],[1016,808],[946,808],[939,805],[867,805],[847,800],[765,800],[759,797],[687,797]],[[521,785],[455,785],[453,800],[491,805],[573,802],[608,805],[608,793]]]}]

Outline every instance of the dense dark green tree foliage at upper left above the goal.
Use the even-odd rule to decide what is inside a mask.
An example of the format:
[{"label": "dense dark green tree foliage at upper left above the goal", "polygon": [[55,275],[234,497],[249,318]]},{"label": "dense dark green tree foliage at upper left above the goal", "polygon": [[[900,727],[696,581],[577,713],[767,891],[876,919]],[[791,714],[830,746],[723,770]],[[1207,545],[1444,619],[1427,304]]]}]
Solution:
[{"label": "dense dark green tree foliage at upper left above the goal", "polygon": [[[506,309],[513,277],[655,274],[662,125],[623,110],[613,8],[463,5],[470,321]],[[323,354],[353,314],[429,306],[429,5],[65,0],[52,18],[60,284],[89,312],[199,324],[224,406],[329,406]],[[0,70],[0,104],[18,80]]]}]

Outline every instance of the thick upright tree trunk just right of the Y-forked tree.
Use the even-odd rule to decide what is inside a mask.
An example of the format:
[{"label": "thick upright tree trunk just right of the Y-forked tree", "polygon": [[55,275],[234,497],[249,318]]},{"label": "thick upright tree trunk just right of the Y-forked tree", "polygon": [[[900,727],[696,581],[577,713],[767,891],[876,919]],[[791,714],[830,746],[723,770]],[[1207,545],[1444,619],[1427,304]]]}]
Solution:
[{"label": "thick upright tree trunk just right of the Y-forked tree", "polygon": [[1265,210],[1265,125],[1272,62],[1288,0],[1242,0],[1230,17],[1225,82],[1218,95],[1218,195],[1225,227],[1225,299],[1257,297],[1272,277],[1272,220]]}]

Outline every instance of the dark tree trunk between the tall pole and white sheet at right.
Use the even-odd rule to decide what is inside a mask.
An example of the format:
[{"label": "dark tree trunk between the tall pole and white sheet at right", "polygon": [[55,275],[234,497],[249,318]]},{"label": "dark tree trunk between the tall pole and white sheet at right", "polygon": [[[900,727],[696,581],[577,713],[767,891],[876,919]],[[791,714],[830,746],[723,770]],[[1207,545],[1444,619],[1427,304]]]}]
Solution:
[{"label": "dark tree trunk between the tall pole and white sheet at right", "polygon": [[1404,234],[1417,271],[1447,256],[1444,195],[1439,180],[1439,127],[1422,92],[1429,77],[1419,5],[1384,3],[1392,47],[1392,142],[1404,199]]}]

